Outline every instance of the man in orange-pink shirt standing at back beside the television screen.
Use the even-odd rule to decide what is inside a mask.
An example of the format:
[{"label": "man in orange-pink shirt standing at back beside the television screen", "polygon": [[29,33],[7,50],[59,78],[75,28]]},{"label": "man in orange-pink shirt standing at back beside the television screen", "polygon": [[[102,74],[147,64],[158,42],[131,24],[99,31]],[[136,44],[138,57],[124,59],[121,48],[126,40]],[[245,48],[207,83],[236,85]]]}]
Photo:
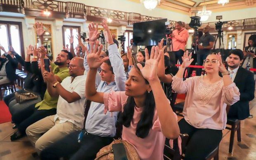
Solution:
[{"label": "man in orange-pink shirt standing at back beside the television screen", "polygon": [[181,21],[176,22],[175,30],[173,31],[171,37],[173,42],[173,53],[175,54],[176,59],[180,61],[180,64],[182,64],[181,57],[185,52],[185,46],[187,44],[189,34]]}]

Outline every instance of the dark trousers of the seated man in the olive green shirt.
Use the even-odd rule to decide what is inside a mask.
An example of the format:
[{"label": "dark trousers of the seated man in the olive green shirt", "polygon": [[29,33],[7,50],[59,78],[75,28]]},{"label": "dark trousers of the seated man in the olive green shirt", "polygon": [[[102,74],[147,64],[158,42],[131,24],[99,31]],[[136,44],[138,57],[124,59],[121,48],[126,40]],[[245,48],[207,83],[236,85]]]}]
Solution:
[{"label": "dark trousers of the seated man in the olive green shirt", "polygon": [[28,126],[49,115],[55,114],[55,108],[49,110],[38,110],[38,107],[35,108],[35,104],[32,104],[23,111],[13,115],[12,121],[18,125],[18,130],[21,134],[26,134],[26,128]]}]

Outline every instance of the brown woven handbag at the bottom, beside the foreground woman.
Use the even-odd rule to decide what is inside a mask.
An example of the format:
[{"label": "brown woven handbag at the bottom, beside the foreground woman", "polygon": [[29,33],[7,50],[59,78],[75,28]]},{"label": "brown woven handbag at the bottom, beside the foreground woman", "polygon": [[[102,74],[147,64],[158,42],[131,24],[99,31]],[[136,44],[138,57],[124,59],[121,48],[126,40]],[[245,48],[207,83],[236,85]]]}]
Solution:
[{"label": "brown woven handbag at the bottom, beside the foreground woman", "polygon": [[[118,160],[117,156],[115,157],[112,145],[114,144],[123,144],[126,157],[128,160],[140,160],[139,155],[136,149],[128,141],[122,139],[114,139],[114,141],[108,146],[104,146],[97,153],[95,160]],[[119,156],[119,155],[118,155]]]}]

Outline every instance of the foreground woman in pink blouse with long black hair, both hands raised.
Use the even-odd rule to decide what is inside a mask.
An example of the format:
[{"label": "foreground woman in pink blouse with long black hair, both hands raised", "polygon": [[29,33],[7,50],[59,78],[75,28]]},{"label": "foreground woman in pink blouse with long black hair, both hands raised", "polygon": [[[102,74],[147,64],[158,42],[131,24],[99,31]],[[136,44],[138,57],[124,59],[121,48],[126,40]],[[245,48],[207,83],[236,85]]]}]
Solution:
[{"label": "foreground woman in pink blouse with long black hair, both hands raised", "polygon": [[90,70],[86,79],[86,98],[104,103],[105,113],[122,111],[122,139],[136,148],[140,159],[163,160],[165,138],[175,139],[180,133],[176,115],[157,77],[163,51],[158,54],[158,47],[152,47],[149,59],[145,49],[146,63],[138,63],[131,69],[125,92],[102,93],[95,89],[97,68],[103,62],[99,59],[101,48],[97,54],[87,55]]}]

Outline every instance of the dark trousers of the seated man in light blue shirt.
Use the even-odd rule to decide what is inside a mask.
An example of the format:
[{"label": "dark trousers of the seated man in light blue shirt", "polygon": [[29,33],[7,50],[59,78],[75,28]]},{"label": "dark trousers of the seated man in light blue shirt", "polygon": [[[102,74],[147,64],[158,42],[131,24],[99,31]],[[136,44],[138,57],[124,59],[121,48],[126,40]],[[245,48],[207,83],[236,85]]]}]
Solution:
[{"label": "dark trousers of the seated man in light blue shirt", "polygon": [[113,141],[113,137],[84,134],[81,142],[78,143],[80,132],[72,132],[45,148],[40,153],[41,160],[59,160],[62,157],[71,157],[70,160],[94,160],[98,151]]}]

